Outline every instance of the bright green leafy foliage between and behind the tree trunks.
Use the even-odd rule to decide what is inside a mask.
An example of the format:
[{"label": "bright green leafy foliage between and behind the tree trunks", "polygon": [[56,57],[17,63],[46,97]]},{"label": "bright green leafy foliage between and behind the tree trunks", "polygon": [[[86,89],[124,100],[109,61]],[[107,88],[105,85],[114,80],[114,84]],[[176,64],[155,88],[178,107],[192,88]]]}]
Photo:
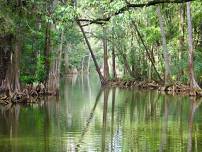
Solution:
[{"label": "bright green leafy foliage between and behind the tree trunks", "polygon": [[[143,3],[145,1],[132,0],[130,3]],[[156,73],[151,68],[151,63],[145,47],[149,51],[149,56],[155,63],[156,69],[164,76],[164,60],[161,42],[159,20],[156,13],[156,6],[141,9],[129,9],[117,14],[121,8],[126,6],[125,1],[97,1],[83,0],[77,1],[74,6],[72,2],[32,0],[26,1],[21,6],[17,6],[16,1],[0,0],[0,35],[13,34],[21,38],[21,81],[30,83],[34,81],[42,82],[45,79],[44,50],[46,48],[47,24],[50,27],[50,55],[46,58],[50,62],[58,57],[58,47],[60,46],[61,31],[64,31],[64,42],[62,44],[63,71],[65,68],[81,69],[81,63],[85,56],[89,55],[88,47],[83,43],[82,34],[75,22],[82,19],[102,19],[111,16],[106,24],[90,24],[84,26],[86,35],[91,47],[96,55],[100,67],[103,66],[103,38],[108,40],[108,57],[111,60],[112,46],[115,48],[117,71],[124,71],[126,55],[129,67],[139,75],[141,79],[148,79],[148,71],[151,69],[152,77]],[[186,9],[184,5],[184,9]],[[161,13],[165,28],[167,47],[170,54],[170,64],[173,80],[188,82],[188,45],[187,45],[187,21],[186,13],[184,20],[184,33],[180,31],[180,5],[161,5]],[[192,2],[193,17],[193,40],[195,48],[194,67],[195,76],[201,81],[201,46],[202,46],[202,26],[201,26],[201,3],[199,0]],[[89,22],[81,22],[87,25]],[[142,37],[143,45],[134,24]],[[103,31],[106,29],[106,32]],[[184,48],[180,50],[180,36],[183,37]],[[182,56],[179,57],[179,52]],[[64,59],[65,55],[68,59]],[[68,64],[67,61],[68,60]],[[66,65],[65,65],[66,64]],[[27,66],[29,65],[29,66]],[[65,67],[67,66],[67,67]],[[111,65],[110,65],[111,66]],[[181,76],[180,71],[183,71]],[[128,73],[126,74],[127,77]],[[125,79],[125,76],[124,76]]]}]

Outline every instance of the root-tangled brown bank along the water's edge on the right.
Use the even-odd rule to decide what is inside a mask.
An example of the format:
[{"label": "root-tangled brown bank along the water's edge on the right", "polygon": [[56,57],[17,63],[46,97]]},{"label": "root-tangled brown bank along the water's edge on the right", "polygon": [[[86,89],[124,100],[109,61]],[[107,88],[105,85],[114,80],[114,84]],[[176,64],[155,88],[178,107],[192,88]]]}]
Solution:
[{"label": "root-tangled brown bank along the water's edge on the right", "polygon": [[155,81],[135,81],[135,80],[116,79],[108,81],[107,86],[119,87],[119,88],[139,88],[146,90],[158,90],[159,92],[164,92],[171,95],[187,95],[187,96],[202,97],[202,90],[191,89],[189,85],[184,85],[180,82],[171,83],[165,86],[164,84]]}]

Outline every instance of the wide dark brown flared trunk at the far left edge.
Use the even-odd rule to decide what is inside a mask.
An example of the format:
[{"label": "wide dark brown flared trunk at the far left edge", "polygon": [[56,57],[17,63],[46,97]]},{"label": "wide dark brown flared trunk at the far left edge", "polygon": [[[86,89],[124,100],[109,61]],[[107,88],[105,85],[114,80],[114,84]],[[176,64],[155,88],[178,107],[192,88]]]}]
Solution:
[{"label": "wide dark brown flared trunk at the far left edge", "polygon": [[0,90],[9,90],[10,93],[19,91],[20,40],[12,35],[0,37],[0,40]]}]

